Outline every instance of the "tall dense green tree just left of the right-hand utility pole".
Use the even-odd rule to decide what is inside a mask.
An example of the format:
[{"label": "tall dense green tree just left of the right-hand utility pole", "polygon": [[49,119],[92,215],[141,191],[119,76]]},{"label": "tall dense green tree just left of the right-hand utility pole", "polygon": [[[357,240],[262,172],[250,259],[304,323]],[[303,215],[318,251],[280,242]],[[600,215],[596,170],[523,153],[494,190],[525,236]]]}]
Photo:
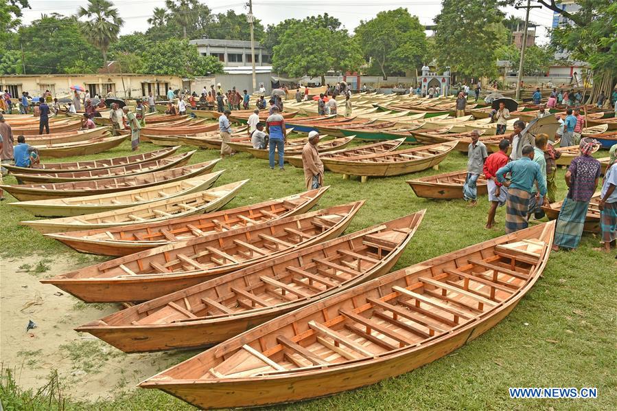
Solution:
[{"label": "tall dense green tree just left of the right-hand utility pole", "polygon": [[437,63],[465,77],[496,74],[494,50],[508,43],[502,19],[497,0],[443,0],[434,19]]}]

